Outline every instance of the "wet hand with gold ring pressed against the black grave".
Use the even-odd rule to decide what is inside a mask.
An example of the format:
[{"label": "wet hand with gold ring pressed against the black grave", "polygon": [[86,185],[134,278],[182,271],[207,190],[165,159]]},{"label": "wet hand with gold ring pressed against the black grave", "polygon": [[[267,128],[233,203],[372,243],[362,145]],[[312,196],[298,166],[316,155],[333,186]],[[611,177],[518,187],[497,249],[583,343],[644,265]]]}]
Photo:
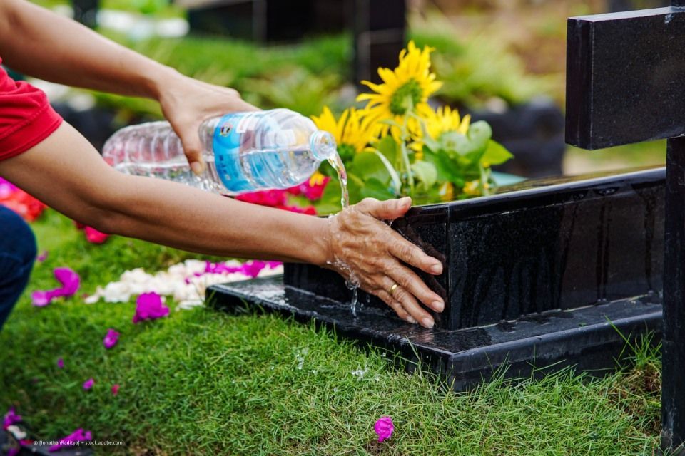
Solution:
[{"label": "wet hand with gold ring pressed against the black grave", "polygon": [[366,198],[331,217],[327,267],[378,296],[403,320],[432,328],[433,318],[419,302],[437,312],[445,303],[407,264],[433,275],[442,274],[442,264],[382,222],[402,217],[411,204],[410,197]]}]

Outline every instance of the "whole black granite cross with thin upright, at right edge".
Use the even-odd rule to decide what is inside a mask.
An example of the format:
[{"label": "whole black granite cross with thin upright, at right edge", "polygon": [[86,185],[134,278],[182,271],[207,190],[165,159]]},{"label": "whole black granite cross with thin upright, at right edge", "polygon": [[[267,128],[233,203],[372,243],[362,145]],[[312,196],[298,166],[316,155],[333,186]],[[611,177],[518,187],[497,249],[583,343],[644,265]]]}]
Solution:
[{"label": "whole black granite cross with thin upright, at right edge", "polygon": [[566,134],[585,149],[668,138],[661,446],[684,454],[685,0],[671,5],[569,19]]}]

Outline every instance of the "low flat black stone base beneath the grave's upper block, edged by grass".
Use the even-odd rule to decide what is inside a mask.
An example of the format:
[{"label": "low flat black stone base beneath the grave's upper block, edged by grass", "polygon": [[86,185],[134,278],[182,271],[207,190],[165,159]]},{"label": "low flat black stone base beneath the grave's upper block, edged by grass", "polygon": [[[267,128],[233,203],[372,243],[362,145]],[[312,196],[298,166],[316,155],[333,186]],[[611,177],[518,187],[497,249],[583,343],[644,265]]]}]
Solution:
[{"label": "low flat black stone base beneath the grave's upper block, edged by grass", "polygon": [[281,276],[211,286],[215,309],[262,309],[314,319],[336,333],[421,361],[445,375],[455,390],[487,381],[504,368],[507,378],[529,378],[573,366],[602,375],[625,355],[626,341],[646,333],[661,338],[661,300],[641,296],[567,311],[547,311],[515,321],[445,330],[405,323],[392,310],[350,306],[283,285]]}]

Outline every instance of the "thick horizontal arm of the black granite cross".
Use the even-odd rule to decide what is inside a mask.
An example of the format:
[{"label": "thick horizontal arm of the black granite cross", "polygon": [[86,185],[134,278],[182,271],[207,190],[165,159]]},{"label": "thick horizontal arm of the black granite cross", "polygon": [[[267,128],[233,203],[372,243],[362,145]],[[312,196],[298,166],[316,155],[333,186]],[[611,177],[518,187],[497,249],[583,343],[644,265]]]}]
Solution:
[{"label": "thick horizontal arm of the black granite cross", "polygon": [[685,8],[573,17],[566,140],[599,149],[685,135]]}]

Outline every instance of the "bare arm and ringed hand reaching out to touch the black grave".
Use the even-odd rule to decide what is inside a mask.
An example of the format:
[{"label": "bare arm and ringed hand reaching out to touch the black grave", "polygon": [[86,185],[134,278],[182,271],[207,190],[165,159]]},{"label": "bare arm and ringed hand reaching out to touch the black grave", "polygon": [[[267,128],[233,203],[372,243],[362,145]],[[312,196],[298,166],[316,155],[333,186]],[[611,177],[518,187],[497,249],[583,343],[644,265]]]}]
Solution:
[{"label": "bare arm and ringed hand reaching out to touch the black grave", "polygon": [[[340,268],[344,263],[362,289],[407,321],[432,326],[417,299],[442,311],[440,296],[404,264],[438,274],[431,268],[441,271],[440,263],[379,221],[400,217],[408,201],[365,200],[333,219],[255,206],[175,182],[123,175],[66,123],[39,145],[0,161],[0,175],[103,232],[225,257],[304,261],[349,276]],[[392,283],[399,287],[390,296]]]}]

